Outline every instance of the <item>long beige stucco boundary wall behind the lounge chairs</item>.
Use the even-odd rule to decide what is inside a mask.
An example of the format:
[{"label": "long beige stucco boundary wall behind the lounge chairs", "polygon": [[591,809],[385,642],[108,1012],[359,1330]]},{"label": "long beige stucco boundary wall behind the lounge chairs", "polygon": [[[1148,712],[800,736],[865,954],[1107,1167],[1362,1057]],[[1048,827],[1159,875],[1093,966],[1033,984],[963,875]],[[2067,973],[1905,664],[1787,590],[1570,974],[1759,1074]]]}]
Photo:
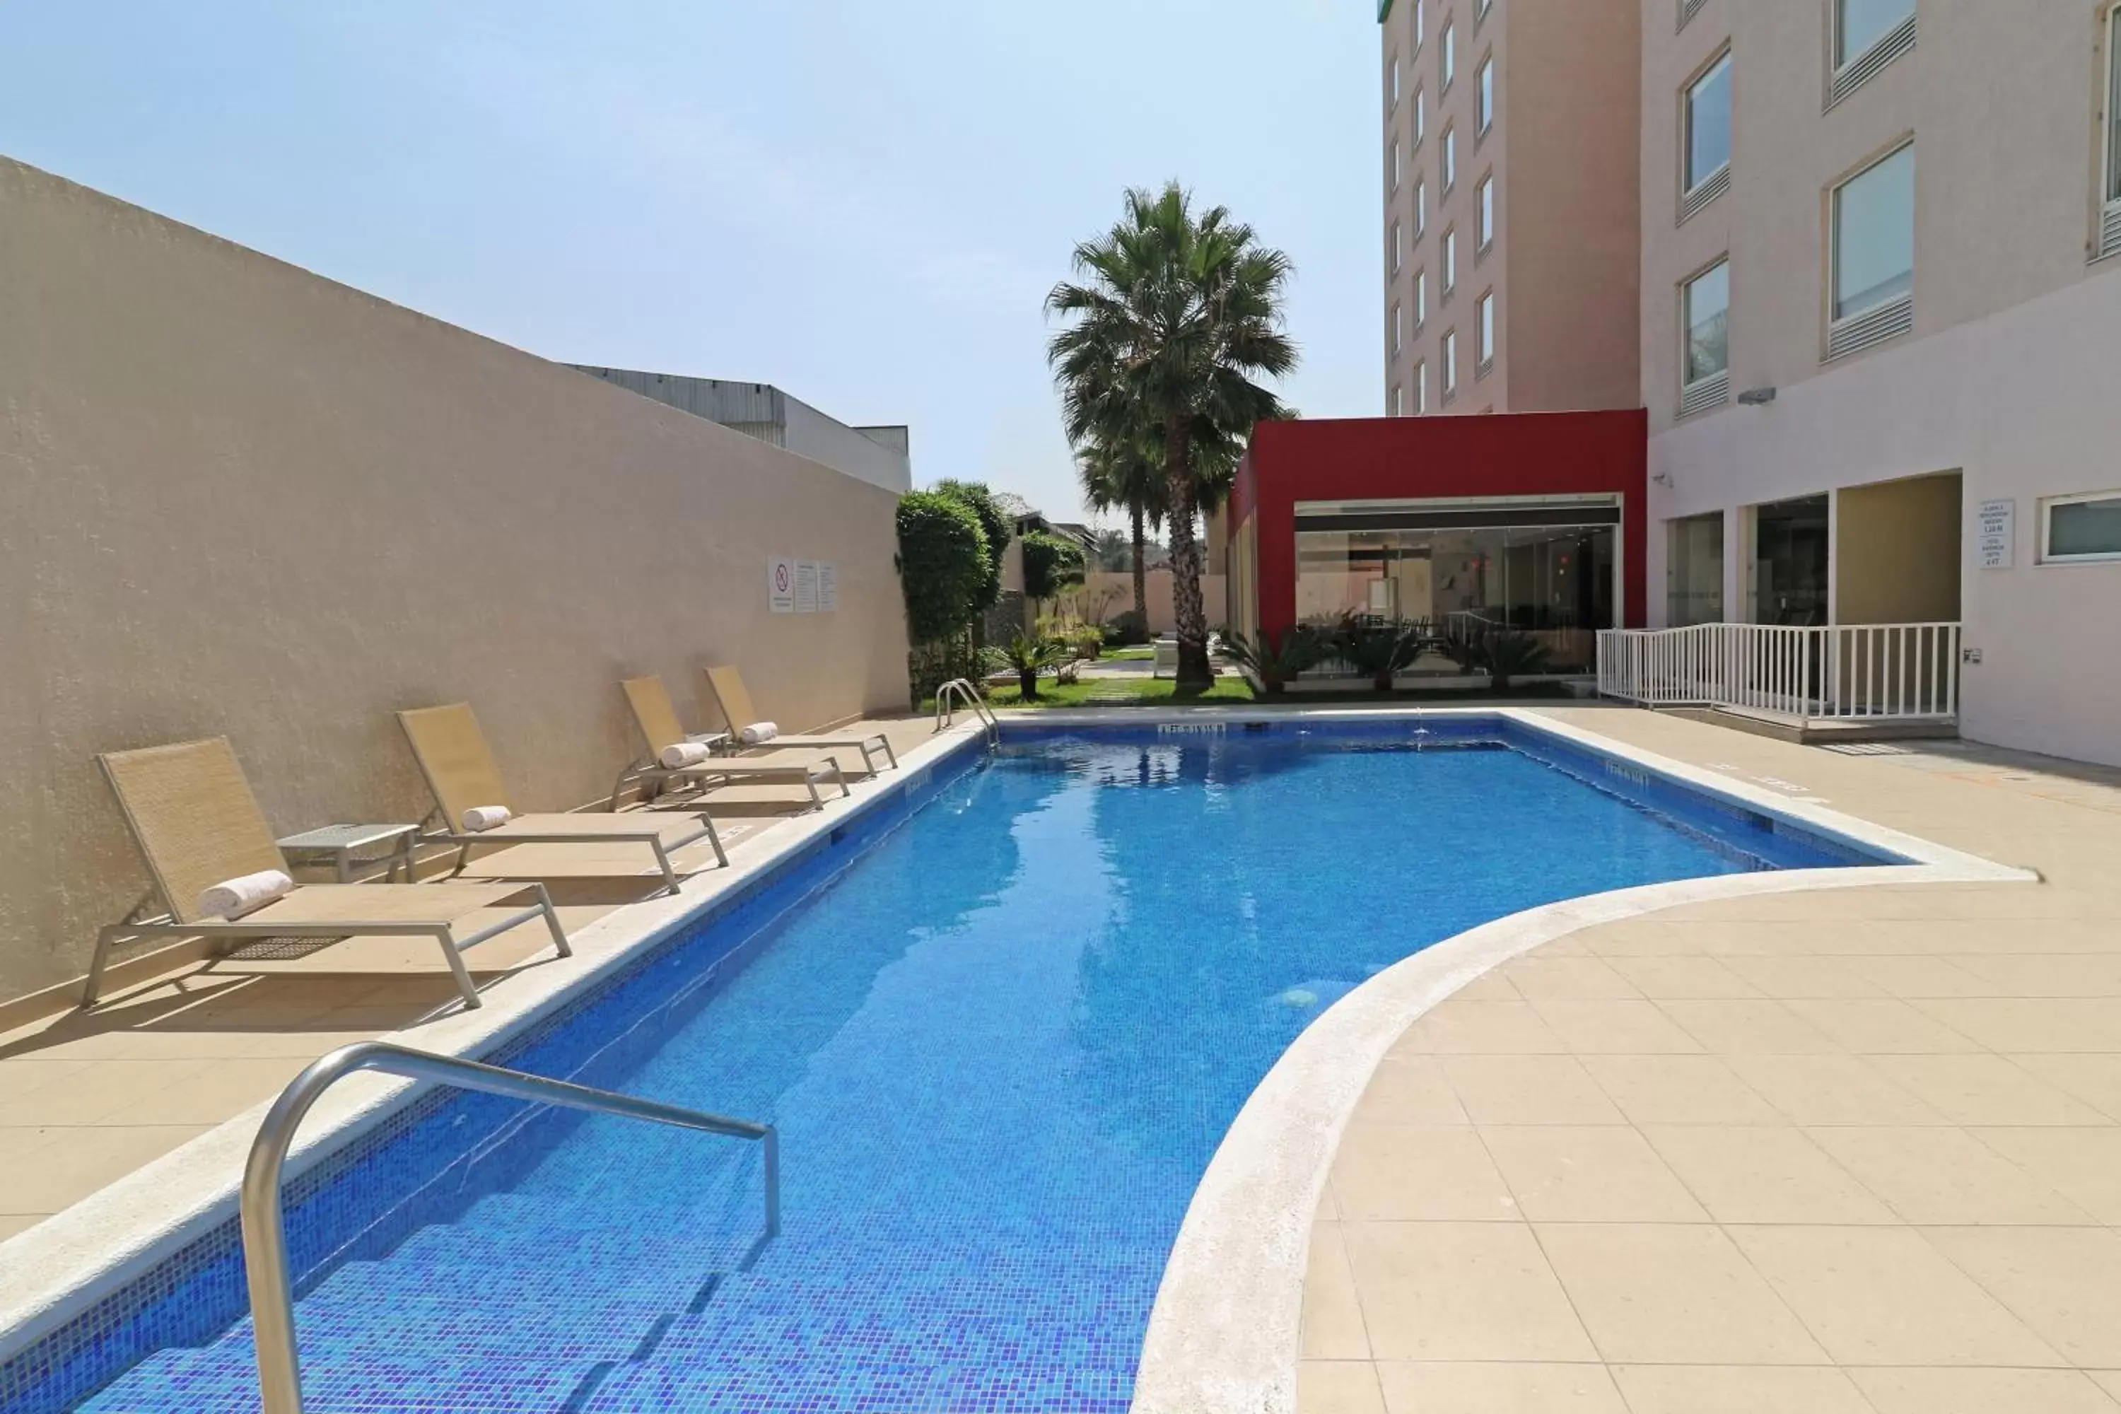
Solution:
[{"label": "long beige stucco boundary wall behind the lounge chairs", "polygon": [[[233,738],[276,829],[426,810],[471,700],[522,803],[708,659],[808,725],[906,706],[882,488],[0,159],[0,998],[144,876],[93,753]],[[834,615],[770,615],[770,553]]]}]

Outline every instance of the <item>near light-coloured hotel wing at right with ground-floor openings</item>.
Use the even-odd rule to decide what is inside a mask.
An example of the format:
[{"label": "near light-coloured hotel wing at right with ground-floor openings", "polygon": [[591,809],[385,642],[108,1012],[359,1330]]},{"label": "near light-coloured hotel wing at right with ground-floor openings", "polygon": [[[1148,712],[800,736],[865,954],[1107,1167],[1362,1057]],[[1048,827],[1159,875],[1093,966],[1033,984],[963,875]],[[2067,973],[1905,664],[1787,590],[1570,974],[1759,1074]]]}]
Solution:
[{"label": "near light-coloured hotel wing at right with ground-floor openings", "polygon": [[1650,621],[1960,621],[2121,759],[2121,4],[1642,15]]}]

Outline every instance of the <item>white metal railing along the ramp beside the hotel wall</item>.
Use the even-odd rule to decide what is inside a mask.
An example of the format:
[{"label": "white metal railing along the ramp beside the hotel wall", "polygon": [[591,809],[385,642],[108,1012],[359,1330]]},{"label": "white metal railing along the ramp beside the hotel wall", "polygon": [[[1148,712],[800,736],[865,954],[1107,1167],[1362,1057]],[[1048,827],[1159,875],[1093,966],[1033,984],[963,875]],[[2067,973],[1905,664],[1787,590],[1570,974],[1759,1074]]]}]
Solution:
[{"label": "white metal railing along the ramp beside the hotel wall", "polygon": [[1695,623],[1597,636],[1601,697],[1799,723],[1953,721],[1958,623]]}]

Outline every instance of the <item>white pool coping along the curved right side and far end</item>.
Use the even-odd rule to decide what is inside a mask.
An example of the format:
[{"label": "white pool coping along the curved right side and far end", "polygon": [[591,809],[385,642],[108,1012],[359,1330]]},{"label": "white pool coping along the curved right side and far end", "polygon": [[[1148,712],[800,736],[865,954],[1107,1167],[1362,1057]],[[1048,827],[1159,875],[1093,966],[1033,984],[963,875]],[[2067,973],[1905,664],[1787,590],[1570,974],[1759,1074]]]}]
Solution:
[{"label": "white pool coping along the curved right side and far end", "polygon": [[[1164,721],[1285,721],[1292,712],[1190,708]],[[1703,793],[1915,863],[1735,873],[1582,895],[1480,924],[1387,967],[1307,1026],[1258,1083],[1194,1189],[1164,1266],[1135,1374],[1133,1414],[1294,1414],[1311,1223],[1340,1134],[1370,1075],[1421,1013],[1510,958],[1603,922],[1680,903],[1879,884],[2038,882],[1869,820],[1705,772],[1527,708],[1298,710],[1302,719],[1504,717]],[[1145,725],[1141,708],[1041,712],[1052,725]]]}]

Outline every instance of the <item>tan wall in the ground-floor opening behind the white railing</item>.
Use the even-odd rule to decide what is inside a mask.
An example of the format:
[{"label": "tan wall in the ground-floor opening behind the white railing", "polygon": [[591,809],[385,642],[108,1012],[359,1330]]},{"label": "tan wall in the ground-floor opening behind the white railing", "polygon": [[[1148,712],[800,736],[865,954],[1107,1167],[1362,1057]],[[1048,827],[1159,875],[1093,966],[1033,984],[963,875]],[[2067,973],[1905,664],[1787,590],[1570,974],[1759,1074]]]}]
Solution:
[{"label": "tan wall in the ground-floor opening behind the white railing", "polygon": [[1837,623],[1960,617],[1960,477],[1909,477],[1835,492]]}]

